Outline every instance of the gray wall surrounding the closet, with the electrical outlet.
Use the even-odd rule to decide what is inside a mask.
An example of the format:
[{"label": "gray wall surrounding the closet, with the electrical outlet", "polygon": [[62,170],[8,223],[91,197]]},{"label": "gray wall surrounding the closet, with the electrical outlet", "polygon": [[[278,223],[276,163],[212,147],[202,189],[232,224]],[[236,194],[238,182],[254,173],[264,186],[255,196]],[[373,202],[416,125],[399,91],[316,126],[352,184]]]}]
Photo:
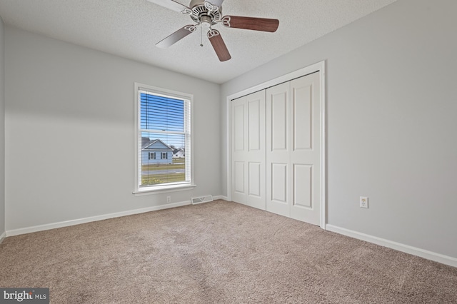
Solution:
[{"label": "gray wall surrounding the closet, with the electrical outlet", "polygon": [[326,60],[328,223],[457,258],[456,11],[399,0],[224,83],[222,134],[226,96]]}]

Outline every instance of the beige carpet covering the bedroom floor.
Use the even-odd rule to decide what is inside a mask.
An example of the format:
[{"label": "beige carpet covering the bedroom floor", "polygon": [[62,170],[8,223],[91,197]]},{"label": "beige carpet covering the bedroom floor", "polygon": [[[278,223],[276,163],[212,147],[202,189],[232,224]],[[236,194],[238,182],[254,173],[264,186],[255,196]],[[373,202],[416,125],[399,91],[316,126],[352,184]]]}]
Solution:
[{"label": "beige carpet covering the bedroom floor", "polygon": [[457,268],[215,201],[6,238],[51,303],[457,303]]}]

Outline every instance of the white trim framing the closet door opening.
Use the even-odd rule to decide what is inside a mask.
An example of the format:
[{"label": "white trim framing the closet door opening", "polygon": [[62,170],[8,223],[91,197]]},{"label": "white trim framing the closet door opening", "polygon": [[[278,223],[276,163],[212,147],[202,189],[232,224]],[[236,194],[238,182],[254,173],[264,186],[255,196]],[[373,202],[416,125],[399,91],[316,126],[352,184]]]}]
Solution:
[{"label": "white trim framing the closet door opening", "polygon": [[321,71],[321,223],[322,229],[326,229],[326,212],[327,212],[327,199],[326,199],[326,62],[321,61],[311,66],[306,66],[303,69],[298,69],[289,74],[279,76],[270,81],[260,83],[246,90],[238,93],[233,93],[226,98],[226,153],[227,153],[227,198],[231,201],[231,100],[236,99],[256,91],[261,91],[271,86],[276,86],[279,83],[291,81],[292,79],[306,76],[308,74]]}]

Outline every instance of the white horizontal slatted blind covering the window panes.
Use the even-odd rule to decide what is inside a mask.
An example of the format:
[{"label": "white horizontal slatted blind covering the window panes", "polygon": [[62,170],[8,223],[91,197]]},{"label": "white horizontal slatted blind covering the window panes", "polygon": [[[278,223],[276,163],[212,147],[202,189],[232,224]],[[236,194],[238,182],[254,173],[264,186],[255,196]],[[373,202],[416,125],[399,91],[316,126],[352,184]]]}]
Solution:
[{"label": "white horizontal slatted blind covering the window panes", "polygon": [[[141,89],[139,105],[139,186],[190,183],[190,101]],[[151,152],[161,157],[144,157]]]}]

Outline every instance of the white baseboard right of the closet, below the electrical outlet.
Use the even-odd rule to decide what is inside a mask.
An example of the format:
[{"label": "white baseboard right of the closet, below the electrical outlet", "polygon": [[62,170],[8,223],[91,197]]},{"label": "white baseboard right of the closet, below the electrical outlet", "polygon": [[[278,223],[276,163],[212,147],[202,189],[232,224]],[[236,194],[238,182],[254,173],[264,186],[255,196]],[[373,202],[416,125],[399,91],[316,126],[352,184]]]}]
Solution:
[{"label": "white baseboard right of the closet, below the electrical outlet", "polygon": [[326,225],[326,230],[332,231],[335,233],[339,233],[342,235],[349,236],[351,238],[357,238],[358,240],[365,240],[366,242],[369,243],[374,243],[376,245],[381,245],[384,247],[392,248],[398,251],[401,251],[403,253],[409,253],[411,255],[416,255],[421,258],[426,258],[427,260],[434,260],[435,262],[450,265],[453,267],[457,267],[457,258],[453,258],[448,255],[442,255],[440,253],[434,253],[432,251],[428,250],[423,250],[421,248],[416,248],[410,245],[405,245],[402,243],[396,243],[393,242],[392,240],[386,240],[383,238],[378,238],[373,235],[368,235],[365,233],[360,233],[357,231],[353,230],[348,230],[346,228],[341,228],[338,226],[333,226],[333,225]]}]

